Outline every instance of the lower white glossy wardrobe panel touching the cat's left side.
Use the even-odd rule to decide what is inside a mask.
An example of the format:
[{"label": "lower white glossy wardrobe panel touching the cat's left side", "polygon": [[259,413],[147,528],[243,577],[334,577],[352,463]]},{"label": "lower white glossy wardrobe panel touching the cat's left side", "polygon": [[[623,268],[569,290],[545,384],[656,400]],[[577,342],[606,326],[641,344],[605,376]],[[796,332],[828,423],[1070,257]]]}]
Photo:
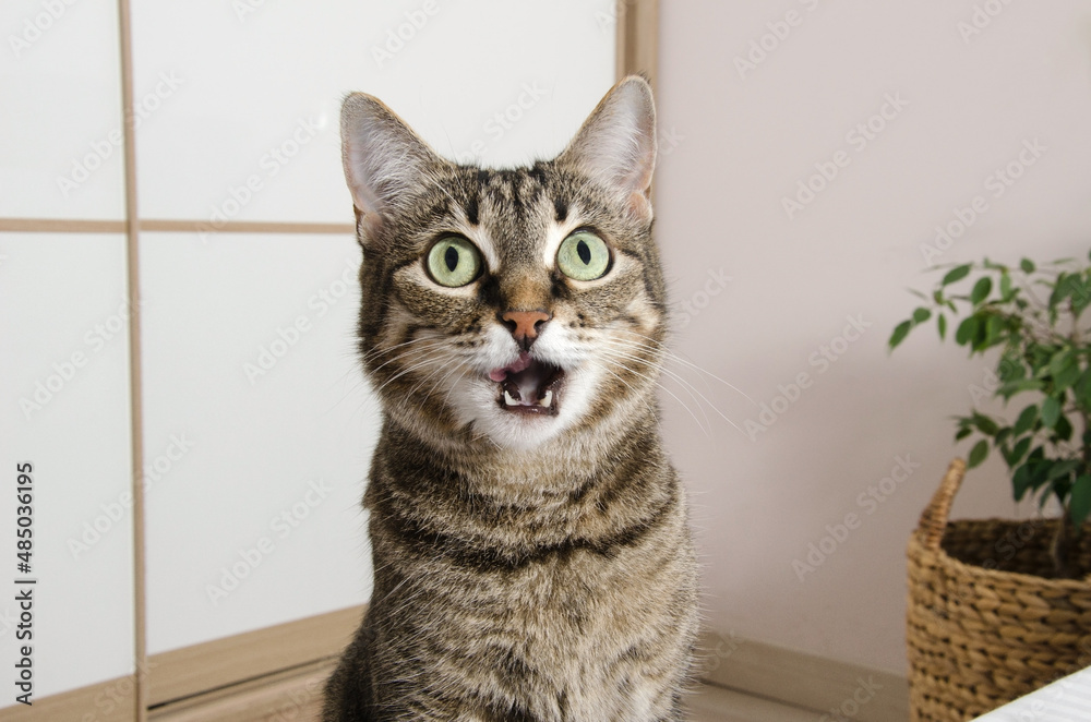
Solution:
[{"label": "lower white glossy wardrobe panel touching the cat's left side", "polygon": [[151,653],[367,601],[359,263],[349,237],[142,237],[145,445],[188,447],[146,496]]}]

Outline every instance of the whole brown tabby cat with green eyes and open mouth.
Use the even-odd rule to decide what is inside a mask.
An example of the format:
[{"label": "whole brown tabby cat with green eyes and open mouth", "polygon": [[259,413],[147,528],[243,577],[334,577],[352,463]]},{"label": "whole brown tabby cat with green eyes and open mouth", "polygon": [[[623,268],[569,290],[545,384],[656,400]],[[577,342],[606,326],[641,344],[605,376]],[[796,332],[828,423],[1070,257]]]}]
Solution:
[{"label": "whole brown tabby cat with green eyes and open mouth", "polygon": [[325,722],[682,719],[697,567],[658,431],[655,115],[628,77],[556,158],[494,170],[345,100],[383,428],[374,593]]}]

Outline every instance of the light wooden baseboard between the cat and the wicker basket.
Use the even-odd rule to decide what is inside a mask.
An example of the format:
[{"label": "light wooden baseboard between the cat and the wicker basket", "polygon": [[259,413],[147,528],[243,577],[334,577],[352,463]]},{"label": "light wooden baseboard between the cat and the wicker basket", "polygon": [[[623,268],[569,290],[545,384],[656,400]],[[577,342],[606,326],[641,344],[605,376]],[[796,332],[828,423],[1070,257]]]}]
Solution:
[{"label": "light wooden baseboard between the cat and the wicker basket", "polygon": [[699,649],[708,684],[814,711],[820,722],[909,719],[906,677],[711,631]]}]

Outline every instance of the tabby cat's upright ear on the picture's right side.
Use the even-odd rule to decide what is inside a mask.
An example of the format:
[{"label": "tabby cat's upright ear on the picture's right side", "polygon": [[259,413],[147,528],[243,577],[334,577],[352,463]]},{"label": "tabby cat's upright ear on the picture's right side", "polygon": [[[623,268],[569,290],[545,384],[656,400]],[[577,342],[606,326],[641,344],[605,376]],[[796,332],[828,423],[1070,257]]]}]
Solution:
[{"label": "tabby cat's upright ear on the picture's right side", "polygon": [[614,85],[558,161],[571,164],[613,189],[634,215],[650,220],[656,104],[647,81],[630,75]]}]

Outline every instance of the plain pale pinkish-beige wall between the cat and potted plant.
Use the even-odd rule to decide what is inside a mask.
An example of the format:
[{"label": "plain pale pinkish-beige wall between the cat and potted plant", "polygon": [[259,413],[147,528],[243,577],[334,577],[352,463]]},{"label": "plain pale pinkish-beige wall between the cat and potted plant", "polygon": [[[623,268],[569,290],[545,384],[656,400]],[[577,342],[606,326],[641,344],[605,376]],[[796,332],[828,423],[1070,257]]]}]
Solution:
[{"label": "plain pale pinkish-beige wall between the cat and potted plant", "polygon": [[[886,341],[914,305],[906,289],[937,279],[925,273],[934,228],[979,196],[934,263],[1091,246],[1091,5],[679,1],[661,22],[657,222],[674,347],[739,388],[676,364],[708,402],[667,383],[695,420],[664,395],[708,622],[903,673],[906,541],[967,450],[948,417],[969,409],[986,363],[931,328],[892,357]],[[764,57],[736,62],[751,62],[752,43]],[[871,137],[855,130],[868,122]],[[1010,185],[990,178],[1011,163]],[[789,213],[782,197],[815,164],[836,176]],[[717,416],[746,426],[781,394],[794,400],[777,401],[783,412],[753,440]],[[904,481],[862,498],[899,459]],[[990,462],[956,516],[1029,514],[1009,490]],[[801,579],[793,561],[850,514],[856,528]]]}]

